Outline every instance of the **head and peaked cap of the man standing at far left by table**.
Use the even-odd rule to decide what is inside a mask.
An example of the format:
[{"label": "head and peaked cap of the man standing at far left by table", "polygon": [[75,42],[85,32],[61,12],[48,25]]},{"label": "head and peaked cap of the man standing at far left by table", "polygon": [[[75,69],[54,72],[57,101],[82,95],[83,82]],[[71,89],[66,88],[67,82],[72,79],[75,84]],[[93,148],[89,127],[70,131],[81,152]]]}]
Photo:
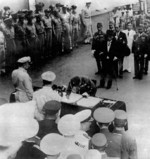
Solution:
[{"label": "head and peaked cap of the man standing at far left by table", "polygon": [[23,67],[25,70],[28,70],[30,68],[31,58],[29,56],[22,57],[17,61],[17,63],[19,67]]}]

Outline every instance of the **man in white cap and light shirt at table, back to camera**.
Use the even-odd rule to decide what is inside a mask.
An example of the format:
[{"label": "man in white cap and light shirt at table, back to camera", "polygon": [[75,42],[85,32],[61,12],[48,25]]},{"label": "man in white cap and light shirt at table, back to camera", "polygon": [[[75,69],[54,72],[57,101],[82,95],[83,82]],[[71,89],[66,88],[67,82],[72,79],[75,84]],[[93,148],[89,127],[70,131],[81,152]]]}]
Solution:
[{"label": "man in white cap and light shirt at table, back to camera", "polygon": [[37,103],[35,118],[39,121],[44,119],[43,106],[46,102],[51,100],[61,101],[61,96],[58,94],[58,92],[52,89],[52,82],[56,78],[55,73],[51,71],[44,72],[41,75],[41,78],[43,80],[43,87],[34,92],[33,95],[33,98]]}]

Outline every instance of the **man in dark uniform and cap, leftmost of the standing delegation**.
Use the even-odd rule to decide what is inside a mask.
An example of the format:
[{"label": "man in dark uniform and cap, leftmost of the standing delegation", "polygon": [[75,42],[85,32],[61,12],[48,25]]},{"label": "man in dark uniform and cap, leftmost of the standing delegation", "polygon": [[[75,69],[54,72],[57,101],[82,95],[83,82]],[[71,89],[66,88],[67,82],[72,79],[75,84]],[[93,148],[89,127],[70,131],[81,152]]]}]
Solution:
[{"label": "man in dark uniform and cap, leftmost of the standing delegation", "polygon": [[92,42],[92,52],[94,53],[94,57],[98,68],[98,72],[96,72],[95,74],[100,74],[102,69],[101,52],[102,44],[105,40],[105,33],[102,31],[102,28],[102,23],[97,23],[97,32],[94,34]]}]

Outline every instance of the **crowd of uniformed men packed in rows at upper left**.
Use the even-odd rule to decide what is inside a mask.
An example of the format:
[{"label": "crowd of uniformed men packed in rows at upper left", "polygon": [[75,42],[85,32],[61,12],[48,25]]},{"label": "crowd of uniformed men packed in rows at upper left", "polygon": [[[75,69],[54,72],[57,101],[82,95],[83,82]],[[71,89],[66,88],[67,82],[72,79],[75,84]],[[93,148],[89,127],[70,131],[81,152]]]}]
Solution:
[{"label": "crowd of uniformed men packed in rows at upper left", "polygon": [[73,5],[68,11],[67,6],[63,6],[60,13],[51,6],[51,10],[46,9],[43,14],[18,11],[5,18],[4,23],[1,21],[0,30],[6,41],[6,67],[12,68],[14,61],[25,55],[36,61],[39,57],[50,56],[52,49],[60,54],[65,49],[70,51],[77,47],[80,21],[76,8]]}]

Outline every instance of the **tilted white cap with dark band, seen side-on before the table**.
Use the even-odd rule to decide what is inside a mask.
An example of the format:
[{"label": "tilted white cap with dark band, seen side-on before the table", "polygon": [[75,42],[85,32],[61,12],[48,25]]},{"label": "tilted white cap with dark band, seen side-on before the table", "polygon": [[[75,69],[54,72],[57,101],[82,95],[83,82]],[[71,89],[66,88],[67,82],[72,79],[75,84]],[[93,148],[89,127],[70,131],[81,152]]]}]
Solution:
[{"label": "tilted white cap with dark band, seen side-on before the table", "polygon": [[86,109],[75,114],[75,117],[82,123],[91,117],[92,111]]}]

